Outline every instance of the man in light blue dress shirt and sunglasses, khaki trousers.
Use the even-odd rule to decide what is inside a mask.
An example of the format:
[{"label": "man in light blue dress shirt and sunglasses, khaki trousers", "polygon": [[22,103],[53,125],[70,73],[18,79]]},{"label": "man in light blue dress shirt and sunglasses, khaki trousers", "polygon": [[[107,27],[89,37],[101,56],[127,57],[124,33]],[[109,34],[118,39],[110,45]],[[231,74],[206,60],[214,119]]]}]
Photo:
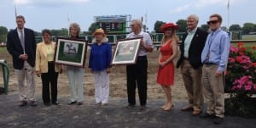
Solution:
[{"label": "man in light blue dress shirt and sunglasses, khaki trousers", "polygon": [[207,113],[201,117],[214,117],[214,123],[224,120],[224,71],[230,53],[230,37],[220,28],[222,17],[212,14],[207,24],[212,31],[207,36],[201,54],[203,95],[207,102]]}]

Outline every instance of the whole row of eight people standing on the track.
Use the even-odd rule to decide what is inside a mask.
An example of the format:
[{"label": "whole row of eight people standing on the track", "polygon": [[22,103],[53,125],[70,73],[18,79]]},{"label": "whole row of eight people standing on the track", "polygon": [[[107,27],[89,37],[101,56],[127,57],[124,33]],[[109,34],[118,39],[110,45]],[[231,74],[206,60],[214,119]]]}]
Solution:
[{"label": "whole row of eight people standing on the track", "polygon": [[[181,110],[192,111],[193,115],[200,115],[203,118],[215,117],[214,123],[220,124],[224,119],[224,71],[229,56],[230,37],[220,28],[222,18],[219,14],[212,14],[207,22],[210,27],[209,34],[197,27],[198,22],[199,18],[195,14],[189,15],[188,31],[183,35],[180,45],[181,54],[177,68],[181,67],[184,86],[189,97],[189,105]],[[57,79],[59,73],[62,73],[63,66],[54,64],[55,42],[50,41],[50,31],[42,31],[44,42],[37,44],[34,32],[24,27],[25,18],[22,15],[16,17],[16,24],[17,28],[8,34],[7,49],[13,57],[20,92],[20,106],[25,106],[27,101],[30,101],[32,106],[37,106],[34,71],[42,79],[44,105],[58,105]],[[142,28],[142,21],[134,19],[131,21],[132,32],[126,36],[127,39],[142,37],[137,63],[126,65],[127,109],[136,107],[136,89],[138,89],[140,109],[147,109],[147,54],[153,51],[154,46],[151,37],[147,32],[143,32]],[[175,32],[177,29],[178,26],[173,23],[161,26],[164,36],[160,47],[156,81],[166,94],[166,103],[161,107],[165,111],[173,108],[171,86],[174,85],[173,60],[177,58],[178,51],[178,38]],[[70,38],[80,39],[78,24],[71,24],[69,31]],[[96,104],[108,105],[111,45],[102,29],[97,29],[93,36],[95,38],[90,49],[89,68],[95,78]],[[84,68],[66,66],[66,69],[71,88],[71,101],[68,104],[82,105]],[[207,113],[202,113],[204,100],[207,103]]]}]

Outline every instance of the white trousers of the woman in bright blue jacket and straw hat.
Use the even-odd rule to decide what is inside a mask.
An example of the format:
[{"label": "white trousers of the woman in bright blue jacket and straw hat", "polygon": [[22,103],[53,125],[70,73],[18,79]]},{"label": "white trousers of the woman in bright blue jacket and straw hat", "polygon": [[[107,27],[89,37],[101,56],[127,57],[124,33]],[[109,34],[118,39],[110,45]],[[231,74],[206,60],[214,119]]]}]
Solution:
[{"label": "white trousers of the woman in bright blue jacket and straw hat", "polygon": [[106,70],[94,71],[96,103],[108,103],[109,75]]}]

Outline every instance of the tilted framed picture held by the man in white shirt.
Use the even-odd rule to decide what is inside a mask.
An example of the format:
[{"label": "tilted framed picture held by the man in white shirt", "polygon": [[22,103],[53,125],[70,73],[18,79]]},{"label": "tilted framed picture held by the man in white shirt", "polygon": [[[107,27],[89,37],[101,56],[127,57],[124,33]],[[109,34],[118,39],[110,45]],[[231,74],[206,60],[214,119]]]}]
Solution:
[{"label": "tilted framed picture held by the man in white shirt", "polygon": [[119,40],[113,53],[112,64],[136,64],[142,37]]}]

